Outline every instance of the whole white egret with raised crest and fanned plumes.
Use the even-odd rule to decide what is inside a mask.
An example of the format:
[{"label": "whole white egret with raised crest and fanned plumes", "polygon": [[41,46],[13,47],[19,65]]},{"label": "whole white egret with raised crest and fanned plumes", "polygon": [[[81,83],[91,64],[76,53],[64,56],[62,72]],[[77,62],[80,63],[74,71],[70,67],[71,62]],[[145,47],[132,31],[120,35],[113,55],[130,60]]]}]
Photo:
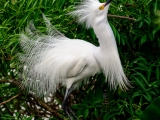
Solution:
[{"label": "whole white egret with raised crest and fanned plumes", "polygon": [[[84,40],[65,37],[45,16],[47,35],[35,35],[30,29],[26,29],[28,35],[21,34],[20,45],[24,53],[19,55],[19,60],[25,65],[24,85],[38,95],[54,93],[60,83],[66,86],[62,108],[70,119],[70,114],[76,117],[67,105],[67,99],[80,81],[103,72],[111,89],[119,86],[126,90],[130,86],[107,19],[111,1],[85,0],[71,13],[78,17],[79,23],[85,23],[86,28],[93,28],[100,44],[98,47]],[[33,25],[31,27],[35,29]]]}]

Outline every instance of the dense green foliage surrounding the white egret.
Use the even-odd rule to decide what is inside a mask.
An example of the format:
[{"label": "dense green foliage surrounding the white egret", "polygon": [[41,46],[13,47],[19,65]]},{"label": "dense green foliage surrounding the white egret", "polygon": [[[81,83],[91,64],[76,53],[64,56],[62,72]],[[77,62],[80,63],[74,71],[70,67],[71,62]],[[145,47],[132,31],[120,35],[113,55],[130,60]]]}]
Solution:
[{"label": "dense green foliage surrounding the white egret", "polygon": [[[77,0],[78,1],[78,0]],[[98,46],[92,29],[77,25],[67,13],[76,0],[1,0],[0,2],[0,118],[35,119],[65,117],[60,109],[64,88],[44,101],[22,92],[19,85],[16,53],[19,33],[30,20],[45,32],[42,13],[69,38],[83,39]],[[135,18],[136,21],[109,17],[121,61],[133,88],[127,92],[110,91],[102,74],[73,92],[70,104],[79,119],[140,119],[143,111],[160,96],[160,8],[159,0],[114,0],[109,14]],[[47,100],[46,100],[47,99]],[[1,103],[5,104],[1,105]],[[76,103],[76,104],[75,104]],[[154,103],[155,105],[157,103]],[[38,106],[38,107],[37,107]],[[55,112],[56,111],[56,112]],[[58,113],[58,114],[56,114]],[[148,113],[150,116],[151,113]],[[65,118],[67,119],[67,118]]]}]

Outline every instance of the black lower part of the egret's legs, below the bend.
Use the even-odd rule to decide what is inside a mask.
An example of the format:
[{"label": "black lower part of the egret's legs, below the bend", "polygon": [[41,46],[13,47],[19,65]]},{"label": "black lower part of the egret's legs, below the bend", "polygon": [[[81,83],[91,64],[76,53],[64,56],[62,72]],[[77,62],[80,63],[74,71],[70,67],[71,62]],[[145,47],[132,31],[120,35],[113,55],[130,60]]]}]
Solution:
[{"label": "black lower part of the egret's legs, below the bend", "polygon": [[75,120],[77,120],[77,117],[76,117],[75,113],[74,113],[73,110],[69,107],[68,103],[66,103],[66,102],[63,103],[63,104],[62,104],[62,109],[63,109],[64,112],[67,114],[67,116],[68,116],[68,118],[69,118],[70,120],[72,120],[71,115],[73,116],[73,118],[74,118]]}]

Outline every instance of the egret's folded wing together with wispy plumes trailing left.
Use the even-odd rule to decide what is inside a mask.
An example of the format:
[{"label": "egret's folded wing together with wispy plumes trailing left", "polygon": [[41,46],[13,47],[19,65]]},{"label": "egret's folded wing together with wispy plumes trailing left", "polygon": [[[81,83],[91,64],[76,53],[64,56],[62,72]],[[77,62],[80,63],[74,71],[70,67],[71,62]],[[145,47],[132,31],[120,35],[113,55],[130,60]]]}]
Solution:
[{"label": "egret's folded wing together with wispy plumes trailing left", "polygon": [[52,36],[30,39],[27,36],[21,39],[24,54],[20,55],[20,61],[27,66],[23,70],[24,84],[39,94],[55,92],[59,83],[65,84],[68,77],[78,75],[86,65],[83,58],[93,55],[96,48],[83,40]]}]

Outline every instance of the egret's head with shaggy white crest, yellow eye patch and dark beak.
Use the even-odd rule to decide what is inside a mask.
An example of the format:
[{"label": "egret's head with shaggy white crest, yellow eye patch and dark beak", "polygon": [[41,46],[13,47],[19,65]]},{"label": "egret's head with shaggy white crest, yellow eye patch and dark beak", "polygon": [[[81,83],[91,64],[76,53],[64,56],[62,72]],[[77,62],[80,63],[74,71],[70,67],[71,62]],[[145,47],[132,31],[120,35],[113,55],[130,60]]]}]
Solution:
[{"label": "egret's head with shaggy white crest, yellow eye patch and dark beak", "polygon": [[107,19],[111,1],[100,3],[99,0],[84,0],[71,14],[78,17],[79,23],[86,24],[86,28],[93,28],[96,23]]}]

